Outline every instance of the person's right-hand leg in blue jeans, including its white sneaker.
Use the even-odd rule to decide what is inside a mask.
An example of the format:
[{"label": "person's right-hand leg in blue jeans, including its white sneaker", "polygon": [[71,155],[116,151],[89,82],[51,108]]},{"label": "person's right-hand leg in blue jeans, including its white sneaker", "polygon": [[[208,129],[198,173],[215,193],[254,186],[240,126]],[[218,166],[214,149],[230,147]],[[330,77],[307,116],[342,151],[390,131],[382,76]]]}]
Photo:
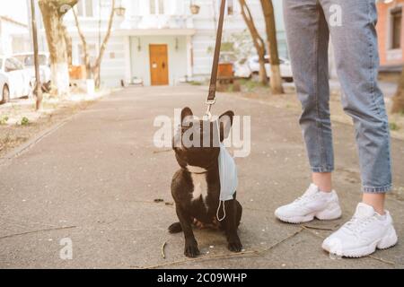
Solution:
[{"label": "person's right-hand leg in blue jeans, including its white sneaker", "polygon": [[329,20],[342,104],[356,128],[364,192],[352,220],[325,239],[322,248],[344,257],[364,257],[398,240],[391,215],[384,211],[384,195],[391,190],[391,156],[388,119],[377,84],[377,11],[374,0],[319,1]]}]

